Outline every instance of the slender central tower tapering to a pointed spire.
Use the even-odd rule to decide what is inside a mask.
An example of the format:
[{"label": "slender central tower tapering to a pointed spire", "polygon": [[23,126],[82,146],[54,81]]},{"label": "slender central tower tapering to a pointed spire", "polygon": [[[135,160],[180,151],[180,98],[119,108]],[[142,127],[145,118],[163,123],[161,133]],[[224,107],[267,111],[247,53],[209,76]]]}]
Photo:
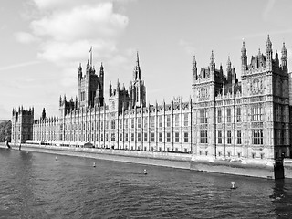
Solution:
[{"label": "slender central tower tapering to a pointed spire", "polygon": [[137,52],[136,67],[133,71],[133,80],[130,85],[130,98],[132,107],[146,106],[146,87],[141,79],[141,68],[139,63],[139,55]]}]

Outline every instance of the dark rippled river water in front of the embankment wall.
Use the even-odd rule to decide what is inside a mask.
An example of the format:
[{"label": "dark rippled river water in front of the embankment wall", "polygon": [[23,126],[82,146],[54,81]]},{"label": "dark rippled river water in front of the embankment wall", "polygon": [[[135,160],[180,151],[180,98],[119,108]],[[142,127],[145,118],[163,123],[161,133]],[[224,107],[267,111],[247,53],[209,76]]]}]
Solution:
[{"label": "dark rippled river water in front of the embankment wall", "polygon": [[0,218],[292,218],[292,181],[0,149]]}]

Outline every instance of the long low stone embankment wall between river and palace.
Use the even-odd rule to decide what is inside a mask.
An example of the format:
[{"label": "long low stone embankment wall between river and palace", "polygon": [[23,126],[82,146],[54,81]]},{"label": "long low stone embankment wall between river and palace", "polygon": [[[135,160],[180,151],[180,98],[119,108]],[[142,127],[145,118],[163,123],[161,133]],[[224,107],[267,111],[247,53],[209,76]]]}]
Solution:
[{"label": "long low stone embankment wall between river and palace", "polygon": [[[18,146],[11,145],[12,149],[18,150]],[[0,144],[0,148],[6,148]],[[106,150],[94,148],[57,147],[48,145],[22,144],[22,151],[46,152],[68,156],[88,157],[100,160],[116,162],[131,162],[146,165],[172,167],[199,172],[217,172],[223,174],[235,174],[251,177],[274,179],[274,168],[264,165],[251,165],[239,162],[225,161],[193,161],[192,154],[152,152],[152,151],[124,151]],[[292,160],[284,162],[285,177],[292,179]]]}]

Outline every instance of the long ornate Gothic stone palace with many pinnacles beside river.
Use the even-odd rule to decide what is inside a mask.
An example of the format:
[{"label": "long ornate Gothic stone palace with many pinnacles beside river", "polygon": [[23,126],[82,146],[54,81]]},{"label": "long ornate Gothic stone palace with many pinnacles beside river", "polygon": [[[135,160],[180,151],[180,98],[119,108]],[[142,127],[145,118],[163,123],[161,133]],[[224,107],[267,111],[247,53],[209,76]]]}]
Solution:
[{"label": "long ornate Gothic stone palace with many pinnacles beside river", "polygon": [[[136,151],[192,153],[195,159],[234,159],[268,162],[291,157],[292,78],[287,69],[285,43],[273,54],[266,49],[247,57],[241,49],[241,80],[230,58],[226,68],[216,68],[212,52],[207,67],[197,68],[193,57],[192,98],[146,104],[146,86],[137,53],[129,89],[119,81],[107,89],[106,72],[87,63],[78,67],[76,99],[59,99],[59,114],[43,110],[12,111],[12,143],[37,143]],[[225,72],[224,72],[225,71]],[[190,85],[191,86],[191,85]]]}]

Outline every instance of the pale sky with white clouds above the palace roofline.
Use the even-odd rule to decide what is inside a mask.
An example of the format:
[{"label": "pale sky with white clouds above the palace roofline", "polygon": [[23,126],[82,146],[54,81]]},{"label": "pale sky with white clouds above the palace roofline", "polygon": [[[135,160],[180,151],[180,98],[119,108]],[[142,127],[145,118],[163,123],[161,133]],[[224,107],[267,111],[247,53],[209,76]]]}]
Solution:
[{"label": "pale sky with white clouds above the palace roofline", "polygon": [[193,56],[207,67],[212,50],[216,68],[230,56],[240,80],[243,40],[248,59],[265,52],[267,35],[274,54],[285,42],[292,68],[291,11],[289,0],[2,0],[0,120],[22,105],[35,119],[43,108],[57,116],[60,95],[77,95],[91,46],[107,103],[110,81],[129,88],[137,51],[151,104],[190,99]]}]

